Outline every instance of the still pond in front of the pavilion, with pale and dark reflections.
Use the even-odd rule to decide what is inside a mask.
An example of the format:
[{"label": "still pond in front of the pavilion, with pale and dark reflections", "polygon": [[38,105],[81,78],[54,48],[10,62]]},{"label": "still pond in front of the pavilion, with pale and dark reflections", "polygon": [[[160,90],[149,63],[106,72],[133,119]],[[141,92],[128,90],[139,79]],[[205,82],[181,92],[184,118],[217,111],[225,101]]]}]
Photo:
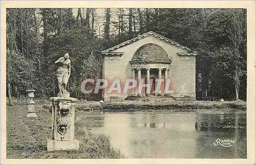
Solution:
[{"label": "still pond in front of the pavilion, with pale and dark reflections", "polygon": [[126,158],[246,158],[246,112],[77,112]]}]

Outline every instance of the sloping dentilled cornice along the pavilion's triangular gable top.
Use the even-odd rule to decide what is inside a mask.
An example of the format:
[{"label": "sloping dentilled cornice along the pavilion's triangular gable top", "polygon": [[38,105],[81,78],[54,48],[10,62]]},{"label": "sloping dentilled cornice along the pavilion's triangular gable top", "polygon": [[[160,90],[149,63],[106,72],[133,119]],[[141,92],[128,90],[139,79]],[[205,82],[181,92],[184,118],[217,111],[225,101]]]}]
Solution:
[{"label": "sloping dentilled cornice along the pavilion's triangular gable top", "polygon": [[166,38],[166,37],[164,37],[164,36],[162,36],[162,35],[160,35],[160,34],[157,34],[157,33],[153,32],[153,31],[150,31],[150,32],[144,33],[144,34],[142,34],[142,35],[139,35],[139,36],[137,36],[137,37],[135,37],[135,38],[133,38],[133,39],[124,41],[124,42],[122,42],[122,43],[120,43],[120,44],[118,44],[118,45],[116,45],[116,46],[113,46],[113,47],[111,47],[111,48],[109,48],[109,49],[106,49],[106,50],[104,50],[104,51],[101,51],[101,53],[108,53],[109,51],[113,51],[113,50],[115,50],[115,49],[118,49],[118,48],[120,48],[121,46],[124,46],[124,45],[126,45],[126,44],[129,44],[129,43],[131,43],[131,42],[135,42],[136,40],[138,40],[138,39],[140,39],[140,38],[142,38],[142,37],[145,37],[146,35],[151,35],[151,34],[154,35],[155,37],[159,37],[160,39],[165,40],[165,41],[168,42],[168,43],[175,44],[175,45],[178,46],[178,47],[181,47],[181,48],[183,48],[183,49],[186,49],[187,51],[190,51],[190,49],[187,48],[186,46],[183,46],[183,45],[181,45],[181,44],[178,43],[178,42],[175,42],[175,41],[170,40],[170,39],[168,39],[168,38]]}]

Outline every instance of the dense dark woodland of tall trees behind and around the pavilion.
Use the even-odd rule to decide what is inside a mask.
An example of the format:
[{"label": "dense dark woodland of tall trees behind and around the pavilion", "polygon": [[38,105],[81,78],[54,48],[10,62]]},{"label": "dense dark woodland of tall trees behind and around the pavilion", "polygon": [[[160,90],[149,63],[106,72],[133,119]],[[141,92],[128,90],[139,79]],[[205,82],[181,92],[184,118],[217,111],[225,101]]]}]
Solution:
[{"label": "dense dark woodland of tall trees behind and around the pavilion", "polygon": [[[102,11],[102,9],[100,9]],[[54,61],[68,52],[68,90],[84,96],[80,84],[100,78],[100,51],[154,31],[199,53],[197,97],[246,99],[245,9],[7,9],[7,96],[37,98],[58,92]],[[102,17],[102,21],[100,20]],[[103,26],[103,27],[102,27]],[[101,31],[100,31],[101,28]]]}]

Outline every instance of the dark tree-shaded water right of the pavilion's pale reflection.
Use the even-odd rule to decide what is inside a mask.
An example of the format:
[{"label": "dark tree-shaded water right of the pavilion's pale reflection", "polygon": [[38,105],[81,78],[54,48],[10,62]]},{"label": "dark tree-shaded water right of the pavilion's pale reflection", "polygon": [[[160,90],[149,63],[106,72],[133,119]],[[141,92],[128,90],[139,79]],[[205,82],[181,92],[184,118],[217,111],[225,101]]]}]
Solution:
[{"label": "dark tree-shaded water right of the pavilion's pale reflection", "polygon": [[[196,140],[197,158],[246,158],[246,113],[197,112],[195,128],[201,131]],[[206,143],[217,142],[218,138],[236,143],[231,147]]]}]

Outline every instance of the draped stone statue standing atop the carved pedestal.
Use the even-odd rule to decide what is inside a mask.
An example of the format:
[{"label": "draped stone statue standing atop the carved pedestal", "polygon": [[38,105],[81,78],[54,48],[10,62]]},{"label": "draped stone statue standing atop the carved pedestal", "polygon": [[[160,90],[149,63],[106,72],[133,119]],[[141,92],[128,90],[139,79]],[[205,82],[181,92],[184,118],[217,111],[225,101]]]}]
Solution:
[{"label": "draped stone statue standing atop the carved pedestal", "polygon": [[70,93],[66,90],[71,73],[69,54],[66,53],[63,57],[60,57],[55,61],[55,64],[58,65],[56,76],[58,79],[59,93],[57,97],[70,97]]}]

